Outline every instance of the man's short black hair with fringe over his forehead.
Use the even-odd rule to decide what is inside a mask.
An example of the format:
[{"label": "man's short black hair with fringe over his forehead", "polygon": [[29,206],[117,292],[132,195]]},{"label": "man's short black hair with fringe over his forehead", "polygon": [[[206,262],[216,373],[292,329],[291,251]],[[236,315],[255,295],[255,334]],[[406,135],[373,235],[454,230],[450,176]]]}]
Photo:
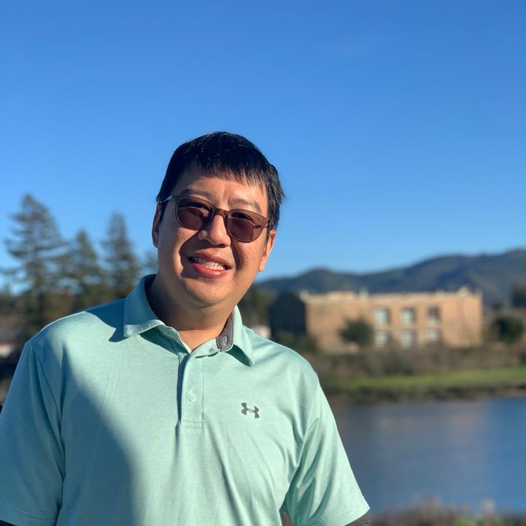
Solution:
[{"label": "man's short black hair with fringe over his forehead", "polygon": [[[269,229],[279,221],[279,205],[284,198],[276,168],[266,160],[260,149],[248,139],[227,132],[214,132],[185,142],[173,153],[157,202],[170,196],[179,177],[193,165],[205,174],[232,177],[237,181],[258,184],[266,189]],[[161,210],[164,212],[164,207]]]}]

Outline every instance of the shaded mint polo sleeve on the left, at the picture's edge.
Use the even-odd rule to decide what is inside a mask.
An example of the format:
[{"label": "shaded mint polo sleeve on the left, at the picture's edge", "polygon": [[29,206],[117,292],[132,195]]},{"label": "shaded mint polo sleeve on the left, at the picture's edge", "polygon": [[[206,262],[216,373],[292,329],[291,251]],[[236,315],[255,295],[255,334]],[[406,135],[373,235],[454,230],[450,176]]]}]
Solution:
[{"label": "shaded mint polo sleeve on the left, at the picture's edge", "polygon": [[0,414],[0,466],[0,520],[54,525],[64,475],[60,413],[29,342]]}]

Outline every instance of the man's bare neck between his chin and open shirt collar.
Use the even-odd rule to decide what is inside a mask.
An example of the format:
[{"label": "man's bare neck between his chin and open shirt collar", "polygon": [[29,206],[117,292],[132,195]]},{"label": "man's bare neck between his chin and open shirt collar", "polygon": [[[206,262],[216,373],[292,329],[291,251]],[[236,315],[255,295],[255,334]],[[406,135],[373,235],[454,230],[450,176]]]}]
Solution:
[{"label": "man's bare neck between his chin and open shirt collar", "polygon": [[151,310],[168,327],[173,327],[192,351],[204,342],[221,334],[232,309],[185,308],[184,310],[166,293],[156,276],[147,287],[146,295]]}]

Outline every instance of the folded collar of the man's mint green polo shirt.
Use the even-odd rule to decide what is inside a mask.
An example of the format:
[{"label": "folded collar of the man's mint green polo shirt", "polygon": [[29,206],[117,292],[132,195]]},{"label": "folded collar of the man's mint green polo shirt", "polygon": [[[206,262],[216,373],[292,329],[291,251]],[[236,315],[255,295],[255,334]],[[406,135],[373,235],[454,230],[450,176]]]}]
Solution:
[{"label": "folded collar of the man's mint green polo shirt", "polygon": [[[125,338],[138,336],[154,327],[165,326],[155,315],[155,312],[151,310],[146,296],[146,288],[151,284],[154,277],[155,274],[142,277],[124,301],[123,336]],[[179,335],[177,334],[177,336]],[[247,331],[243,327],[241,314],[237,306],[234,307],[234,311],[229,316],[227,323],[225,323],[225,328],[216,338],[216,345],[218,351],[231,351],[236,347],[245,355],[248,364],[253,365],[252,345]]]}]

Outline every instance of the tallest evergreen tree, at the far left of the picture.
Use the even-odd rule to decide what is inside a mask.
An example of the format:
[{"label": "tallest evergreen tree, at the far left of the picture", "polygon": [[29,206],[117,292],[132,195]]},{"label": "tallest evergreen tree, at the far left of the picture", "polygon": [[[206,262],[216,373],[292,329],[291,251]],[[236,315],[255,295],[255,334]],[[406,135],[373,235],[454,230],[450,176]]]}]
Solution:
[{"label": "tallest evergreen tree, at the far left of the picture", "polygon": [[68,310],[60,296],[64,241],[47,207],[29,194],[12,220],[12,238],[5,245],[18,261],[10,274],[23,284],[21,338],[25,340]]}]

